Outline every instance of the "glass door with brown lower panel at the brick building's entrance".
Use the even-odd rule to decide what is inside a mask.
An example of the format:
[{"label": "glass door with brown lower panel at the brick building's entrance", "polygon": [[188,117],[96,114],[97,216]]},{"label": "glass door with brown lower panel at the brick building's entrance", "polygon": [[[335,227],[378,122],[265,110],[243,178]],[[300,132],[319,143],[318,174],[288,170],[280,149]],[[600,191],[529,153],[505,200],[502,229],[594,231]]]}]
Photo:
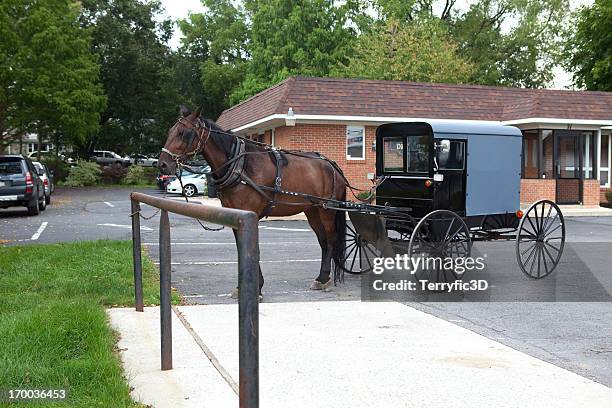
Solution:
[{"label": "glass door with brown lower panel at the brick building's entrance", "polygon": [[557,202],[582,203],[581,134],[571,130],[555,131],[555,177]]}]

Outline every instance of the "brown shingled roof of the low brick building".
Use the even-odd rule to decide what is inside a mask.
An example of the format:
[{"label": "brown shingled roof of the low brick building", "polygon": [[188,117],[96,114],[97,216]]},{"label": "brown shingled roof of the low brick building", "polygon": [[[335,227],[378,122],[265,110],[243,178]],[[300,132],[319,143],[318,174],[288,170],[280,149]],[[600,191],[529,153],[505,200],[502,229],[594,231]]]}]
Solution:
[{"label": "brown shingled roof of the low brick building", "polygon": [[235,129],[289,107],[300,115],[508,121],[612,120],[612,93],[402,81],[291,77],[219,116]]}]

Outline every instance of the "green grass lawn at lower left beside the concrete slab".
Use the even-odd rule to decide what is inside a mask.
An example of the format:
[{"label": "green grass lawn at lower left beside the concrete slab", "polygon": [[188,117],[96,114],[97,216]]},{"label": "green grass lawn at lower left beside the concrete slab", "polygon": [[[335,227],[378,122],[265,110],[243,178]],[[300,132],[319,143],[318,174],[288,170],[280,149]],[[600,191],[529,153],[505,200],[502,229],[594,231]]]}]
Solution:
[{"label": "green grass lawn at lower left beside the concrete slab", "polygon": [[[143,254],[145,305],[159,303],[158,277]],[[133,293],[129,241],[0,247],[0,388],[68,391],[19,407],[139,406],[104,311],[133,305]]]}]

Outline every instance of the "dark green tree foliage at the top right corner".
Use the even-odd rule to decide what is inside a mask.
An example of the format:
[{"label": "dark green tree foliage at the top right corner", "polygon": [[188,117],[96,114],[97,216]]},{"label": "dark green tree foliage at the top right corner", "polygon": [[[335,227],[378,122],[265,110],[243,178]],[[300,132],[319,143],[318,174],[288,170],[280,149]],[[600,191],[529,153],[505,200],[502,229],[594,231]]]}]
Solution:
[{"label": "dark green tree foliage at the top right corner", "polygon": [[612,3],[595,0],[574,18],[564,56],[574,83],[592,91],[612,91]]}]

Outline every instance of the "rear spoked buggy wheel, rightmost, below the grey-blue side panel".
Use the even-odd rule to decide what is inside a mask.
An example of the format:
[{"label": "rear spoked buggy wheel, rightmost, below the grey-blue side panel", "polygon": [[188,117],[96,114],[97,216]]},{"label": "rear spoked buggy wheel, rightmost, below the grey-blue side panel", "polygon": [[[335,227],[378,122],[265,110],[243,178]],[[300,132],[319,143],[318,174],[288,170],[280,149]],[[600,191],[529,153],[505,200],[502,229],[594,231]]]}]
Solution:
[{"label": "rear spoked buggy wheel, rightmost, below the grey-blue side panel", "polygon": [[516,234],[516,260],[530,278],[542,279],[555,270],[565,246],[565,220],[557,206],[541,200],[525,212]]}]

